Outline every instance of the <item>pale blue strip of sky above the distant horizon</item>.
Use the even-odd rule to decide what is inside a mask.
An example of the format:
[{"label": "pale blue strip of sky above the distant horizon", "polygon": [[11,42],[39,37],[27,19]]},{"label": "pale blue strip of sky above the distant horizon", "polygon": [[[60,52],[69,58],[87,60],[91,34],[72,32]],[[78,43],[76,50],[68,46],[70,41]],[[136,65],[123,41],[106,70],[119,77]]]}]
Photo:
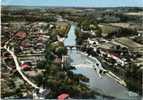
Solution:
[{"label": "pale blue strip of sky above the distant horizon", "polygon": [[66,7],[143,7],[143,0],[2,0],[1,4]]}]

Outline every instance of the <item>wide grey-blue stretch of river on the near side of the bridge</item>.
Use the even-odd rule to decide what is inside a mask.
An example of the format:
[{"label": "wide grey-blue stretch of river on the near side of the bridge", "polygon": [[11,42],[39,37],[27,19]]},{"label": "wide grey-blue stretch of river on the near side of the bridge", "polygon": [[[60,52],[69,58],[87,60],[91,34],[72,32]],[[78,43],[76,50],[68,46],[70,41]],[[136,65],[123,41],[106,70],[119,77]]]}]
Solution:
[{"label": "wide grey-blue stretch of river on the near side of the bridge", "polygon": [[[92,64],[96,62],[93,62],[89,59],[89,57],[80,54],[79,51],[69,51],[69,54],[70,58],[72,58],[72,64],[75,65],[76,68],[74,73],[83,74],[88,77],[90,80],[88,86],[91,90],[106,96],[132,100],[128,99],[130,97],[128,96],[127,89],[117,83],[114,79],[108,77],[107,75],[99,77],[99,74],[94,70]],[[89,63],[89,61],[91,63]]]}]

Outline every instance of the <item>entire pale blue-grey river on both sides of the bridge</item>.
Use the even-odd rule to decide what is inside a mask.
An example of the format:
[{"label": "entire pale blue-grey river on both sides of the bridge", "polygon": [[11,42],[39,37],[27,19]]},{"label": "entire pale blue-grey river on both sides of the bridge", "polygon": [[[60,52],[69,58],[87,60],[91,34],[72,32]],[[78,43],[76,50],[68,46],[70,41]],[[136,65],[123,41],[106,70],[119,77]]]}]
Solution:
[{"label": "entire pale blue-grey river on both sides of the bridge", "polygon": [[[76,44],[75,28],[76,25],[72,24],[68,32],[68,37],[64,41],[65,45]],[[87,84],[92,90],[118,99],[138,100],[138,97],[136,96],[129,96],[128,89],[118,84],[114,79],[106,75],[102,75],[102,77],[99,77],[99,74],[93,68],[93,65],[96,65],[95,63],[99,63],[98,60],[91,60],[88,56],[77,50],[69,50],[68,55],[72,60],[71,64],[75,65],[76,67],[76,70],[74,70],[74,72],[83,74],[84,76],[88,77],[90,81]]]}]

